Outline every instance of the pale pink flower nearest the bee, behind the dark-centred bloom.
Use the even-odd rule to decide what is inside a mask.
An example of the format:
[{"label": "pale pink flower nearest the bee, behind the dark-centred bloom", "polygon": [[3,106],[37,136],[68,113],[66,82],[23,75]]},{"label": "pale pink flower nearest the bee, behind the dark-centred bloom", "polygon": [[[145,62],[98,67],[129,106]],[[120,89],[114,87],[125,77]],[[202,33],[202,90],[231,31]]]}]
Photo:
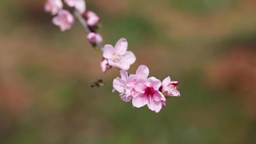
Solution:
[{"label": "pale pink flower nearest the bee, behind the dark-centred bloom", "polygon": [[117,77],[113,80],[113,87],[117,90],[121,99],[125,102],[129,102],[133,99],[137,91],[134,89],[134,84],[137,79],[146,79],[149,75],[149,68],[146,65],[140,65],[136,71],[136,74],[131,74],[128,76],[128,73],[124,70],[120,71],[121,79]]}]

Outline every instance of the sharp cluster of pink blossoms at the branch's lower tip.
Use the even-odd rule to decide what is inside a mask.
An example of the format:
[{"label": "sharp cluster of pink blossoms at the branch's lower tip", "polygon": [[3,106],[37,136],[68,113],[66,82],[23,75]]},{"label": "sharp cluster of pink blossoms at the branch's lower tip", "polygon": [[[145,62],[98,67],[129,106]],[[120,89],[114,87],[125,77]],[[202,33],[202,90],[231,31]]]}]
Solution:
[{"label": "sharp cluster of pink blossoms at the branch's lower tip", "polygon": [[171,81],[168,76],[162,82],[155,77],[149,77],[149,68],[140,65],[136,74],[128,74],[120,70],[121,78],[113,80],[113,87],[119,92],[120,98],[125,102],[132,101],[134,107],[147,105],[150,110],[158,113],[165,107],[169,96],[180,96],[177,91],[178,82]]}]

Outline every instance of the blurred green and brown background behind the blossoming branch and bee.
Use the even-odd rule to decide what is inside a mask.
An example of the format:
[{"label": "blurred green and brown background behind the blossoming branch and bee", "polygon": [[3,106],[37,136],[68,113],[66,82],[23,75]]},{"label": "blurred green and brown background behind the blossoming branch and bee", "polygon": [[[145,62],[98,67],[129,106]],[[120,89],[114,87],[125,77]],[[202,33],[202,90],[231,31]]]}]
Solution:
[{"label": "blurred green and brown background behind the blossoming branch and bee", "polygon": [[255,0],[86,1],[103,44],[128,40],[129,73],[179,81],[160,113],[112,94],[118,69],[44,2],[0,0],[0,144],[256,144]]}]

